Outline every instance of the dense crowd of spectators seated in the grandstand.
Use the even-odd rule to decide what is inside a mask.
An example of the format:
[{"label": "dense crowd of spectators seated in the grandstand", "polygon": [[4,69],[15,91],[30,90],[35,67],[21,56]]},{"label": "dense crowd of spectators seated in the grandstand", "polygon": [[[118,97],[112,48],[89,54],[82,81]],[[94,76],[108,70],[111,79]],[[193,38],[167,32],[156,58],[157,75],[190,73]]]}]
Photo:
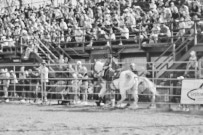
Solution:
[{"label": "dense crowd of spectators seated in the grandstand", "polygon": [[177,36],[182,36],[202,11],[198,0],[68,0],[57,7],[25,5],[0,15],[0,51],[19,42],[19,35],[31,50],[32,36],[56,43],[88,42],[87,46],[95,40],[106,41],[107,46],[114,40],[118,45],[129,39],[143,44],[164,42],[172,36],[170,22],[173,30],[179,29]]}]

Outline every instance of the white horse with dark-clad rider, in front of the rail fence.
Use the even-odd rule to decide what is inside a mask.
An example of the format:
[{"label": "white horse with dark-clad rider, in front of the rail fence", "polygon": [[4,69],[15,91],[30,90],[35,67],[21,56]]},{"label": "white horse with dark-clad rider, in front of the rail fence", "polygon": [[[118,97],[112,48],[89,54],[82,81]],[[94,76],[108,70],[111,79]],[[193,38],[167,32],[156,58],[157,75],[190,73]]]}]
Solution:
[{"label": "white horse with dark-clad rider, in front of the rail fence", "polygon": [[[94,70],[97,73],[98,77],[102,77],[103,76],[103,66],[104,63],[102,63],[101,61],[96,61],[95,65],[94,65]],[[151,105],[150,107],[155,107],[155,97],[156,95],[158,95],[157,91],[156,91],[156,85],[150,81],[148,78],[146,77],[138,77],[137,75],[135,75],[132,71],[130,70],[126,70],[126,71],[122,71],[120,73],[120,76],[118,79],[115,79],[111,82],[110,84],[110,88],[112,90],[120,90],[120,94],[121,94],[121,100],[118,101],[117,106],[120,106],[121,103],[126,99],[126,94],[127,92],[131,92],[133,98],[134,98],[134,103],[133,106],[131,106],[132,108],[138,108],[137,102],[138,102],[138,86],[139,84],[143,85],[144,90],[148,90],[152,93],[152,100],[151,100]],[[101,83],[101,90],[99,93],[99,97],[100,99],[104,97],[105,93],[106,93],[106,80],[102,79],[102,83]],[[114,105],[114,103],[112,103],[112,105]]]}]

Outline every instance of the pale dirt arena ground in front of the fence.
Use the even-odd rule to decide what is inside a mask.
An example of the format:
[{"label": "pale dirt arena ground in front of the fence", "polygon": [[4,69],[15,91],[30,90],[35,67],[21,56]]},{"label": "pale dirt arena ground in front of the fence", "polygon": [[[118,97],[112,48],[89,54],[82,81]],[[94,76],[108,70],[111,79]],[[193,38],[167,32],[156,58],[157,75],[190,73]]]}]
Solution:
[{"label": "pale dirt arena ground in front of the fence", "polygon": [[203,111],[0,103],[0,135],[202,135]]}]

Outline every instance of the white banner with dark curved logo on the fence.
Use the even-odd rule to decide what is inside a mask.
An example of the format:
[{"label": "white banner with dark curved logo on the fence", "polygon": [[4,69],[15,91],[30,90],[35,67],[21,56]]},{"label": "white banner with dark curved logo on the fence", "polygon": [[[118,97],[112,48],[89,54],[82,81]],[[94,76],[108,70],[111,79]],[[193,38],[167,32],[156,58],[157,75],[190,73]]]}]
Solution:
[{"label": "white banner with dark curved logo on the fence", "polygon": [[203,79],[183,80],[181,104],[203,104]]}]

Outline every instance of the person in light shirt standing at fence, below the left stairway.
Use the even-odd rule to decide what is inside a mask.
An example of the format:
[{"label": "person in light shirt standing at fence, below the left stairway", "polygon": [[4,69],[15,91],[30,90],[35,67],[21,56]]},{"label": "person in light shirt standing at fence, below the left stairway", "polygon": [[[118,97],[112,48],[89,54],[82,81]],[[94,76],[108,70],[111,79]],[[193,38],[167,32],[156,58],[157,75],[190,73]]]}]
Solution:
[{"label": "person in light shirt standing at fence, below the left stairway", "polygon": [[46,62],[44,60],[42,61],[41,66],[39,68],[39,73],[41,77],[42,99],[43,99],[43,102],[47,102],[46,87],[47,87],[47,83],[49,82],[49,78],[48,78],[49,69],[46,67]]}]

